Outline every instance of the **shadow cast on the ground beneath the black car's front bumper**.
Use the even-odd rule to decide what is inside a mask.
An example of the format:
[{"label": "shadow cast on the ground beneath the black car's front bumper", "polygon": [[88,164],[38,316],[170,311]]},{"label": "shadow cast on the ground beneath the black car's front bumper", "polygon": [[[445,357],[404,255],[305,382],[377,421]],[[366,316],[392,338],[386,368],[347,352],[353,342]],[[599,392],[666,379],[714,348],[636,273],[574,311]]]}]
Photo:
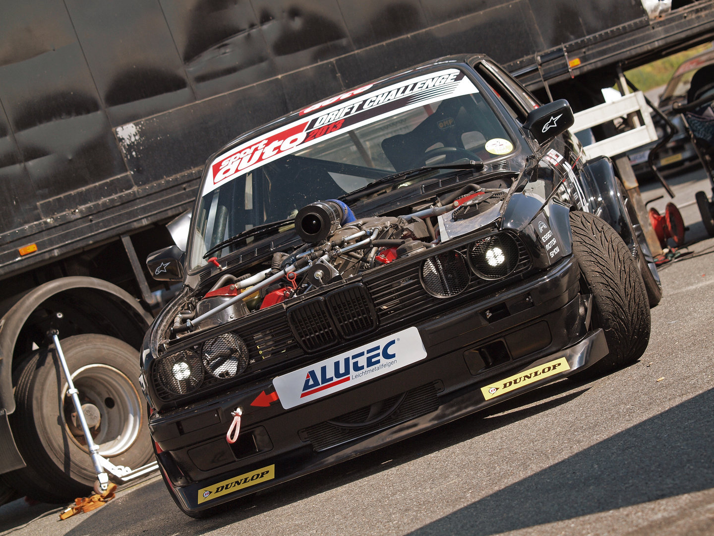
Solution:
[{"label": "shadow cast on the ground beneath the black car's front bumper", "polygon": [[[193,520],[183,515],[166,492],[164,483],[151,482],[124,496],[119,496],[108,505],[92,512],[66,534],[68,536],[87,534],[123,536],[142,532],[152,536],[173,536],[177,532],[192,535],[205,534],[391,469],[431,452],[471,440],[498,427],[552,410],[579,397],[587,390],[588,387],[583,387],[583,382],[561,380],[504,402],[491,408],[490,412],[480,412],[443,425],[438,428],[436,435],[418,435],[397,445],[371,452],[360,457],[359,460],[343,462],[336,467],[329,467],[313,475],[301,477],[286,485],[230,502],[226,505],[225,511],[207,520]],[[530,406],[509,412],[525,405]],[[388,460],[388,463],[385,460]],[[126,522],[128,517],[131,518],[130,524]]]}]

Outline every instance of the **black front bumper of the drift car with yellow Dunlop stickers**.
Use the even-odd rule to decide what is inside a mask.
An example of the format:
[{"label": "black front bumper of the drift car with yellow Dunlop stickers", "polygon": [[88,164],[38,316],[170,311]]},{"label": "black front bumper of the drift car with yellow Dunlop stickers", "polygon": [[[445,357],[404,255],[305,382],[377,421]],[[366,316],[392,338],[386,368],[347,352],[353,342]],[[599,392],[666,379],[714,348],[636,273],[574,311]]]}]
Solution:
[{"label": "black front bumper of the drift car with yellow Dunlop stickers", "polygon": [[[258,394],[272,390],[266,382],[251,386],[248,392],[236,389],[152,416],[157,457],[171,494],[188,512],[213,507],[376,450],[590,366],[608,348],[602,330],[586,332],[585,300],[579,294],[578,279],[577,265],[566,258],[538,277],[419,323],[426,359],[291,410],[283,410],[279,402],[251,407]],[[550,332],[547,338],[545,332]],[[483,359],[474,357],[488,354],[486,348],[501,347],[508,357],[503,362],[483,367]],[[530,379],[531,383],[491,399],[482,392],[482,387],[561,358],[569,367],[563,372]],[[405,409],[385,419],[382,427],[366,427],[363,433],[319,433],[328,420],[400,394],[406,396],[401,402]],[[406,408],[409,399],[411,410]],[[244,408],[241,437],[246,440],[231,448],[225,434],[230,411],[237,406]]]}]

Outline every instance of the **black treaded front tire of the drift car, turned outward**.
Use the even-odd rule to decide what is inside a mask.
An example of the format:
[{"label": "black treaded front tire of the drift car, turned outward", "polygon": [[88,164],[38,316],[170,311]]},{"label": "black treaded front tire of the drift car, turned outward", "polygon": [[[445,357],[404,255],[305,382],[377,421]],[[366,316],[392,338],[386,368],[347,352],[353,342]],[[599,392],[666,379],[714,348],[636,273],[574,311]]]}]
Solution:
[{"label": "black treaded front tire of the drift car, turned outward", "polygon": [[603,329],[610,350],[583,371],[595,376],[634,362],[645,352],[650,308],[635,259],[615,229],[587,212],[571,212],[570,229],[583,292],[593,294],[592,324]]}]

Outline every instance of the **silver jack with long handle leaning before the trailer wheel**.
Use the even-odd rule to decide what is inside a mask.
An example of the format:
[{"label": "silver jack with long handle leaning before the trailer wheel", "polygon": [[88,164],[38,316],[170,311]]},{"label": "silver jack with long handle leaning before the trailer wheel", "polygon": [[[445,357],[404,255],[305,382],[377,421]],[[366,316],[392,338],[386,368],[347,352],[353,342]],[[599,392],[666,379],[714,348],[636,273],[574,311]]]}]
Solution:
[{"label": "silver jack with long handle leaning before the trailer wheel", "polygon": [[[60,313],[58,313],[59,316]],[[96,445],[94,438],[91,437],[89,432],[89,426],[87,425],[86,417],[84,417],[84,410],[82,410],[81,402],[79,401],[79,389],[74,387],[74,382],[72,381],[72,376],[69,373],[69,367],[67,367],[67,361],[64,358],[64,352],[62,352],[62,347],[59,344],[59,331],[57,329],[50,329],[48,332],[49,336],[52,337],[54,342],[54,347],[57,350],[57,357],[59,357],[59,362],[62,365],[62,371],[64,372],[64,377],[67,379],[67,393],[71,394],[72,402],[74,403],[74,409],[77,412],[77,417],[79,417],[79,422],[82,426],[82,432],[84,432],[84,439],[87,442],[87,448],[89,449],[89,455],[91,456],[92,464],[94,465],[94,470],[96,471],[97,482],[94,485],[94,491],[101,495],[105,492],[107,487],[109,487],[109,475],[116,484],[124,484],[133,480],[136,477],[141,477],[149,472],[159,469],[159,463],[154,461],[149,464],[139,467],[139,469],[131,470],[130,467],[124,467],[124,465],[114,465],[104,456],[99,455],[99,445]]]}]

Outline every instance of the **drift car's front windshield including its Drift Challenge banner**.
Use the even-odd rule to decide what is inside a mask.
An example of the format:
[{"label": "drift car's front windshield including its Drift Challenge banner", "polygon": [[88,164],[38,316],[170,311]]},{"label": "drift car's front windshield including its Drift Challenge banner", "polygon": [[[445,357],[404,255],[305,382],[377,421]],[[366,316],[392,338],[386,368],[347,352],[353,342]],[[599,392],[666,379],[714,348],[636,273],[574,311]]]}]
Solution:
[{"label": "drift car's front windshield including its Drift Challenge banner", "polygon": [[206,264],[203,254],[216,244],[294,218],[308,203],[341,197],[395,172],[487,161],[514,150],[501,121],[459,69],[368,88],[211,162],[193,222],[189,269]]}]

